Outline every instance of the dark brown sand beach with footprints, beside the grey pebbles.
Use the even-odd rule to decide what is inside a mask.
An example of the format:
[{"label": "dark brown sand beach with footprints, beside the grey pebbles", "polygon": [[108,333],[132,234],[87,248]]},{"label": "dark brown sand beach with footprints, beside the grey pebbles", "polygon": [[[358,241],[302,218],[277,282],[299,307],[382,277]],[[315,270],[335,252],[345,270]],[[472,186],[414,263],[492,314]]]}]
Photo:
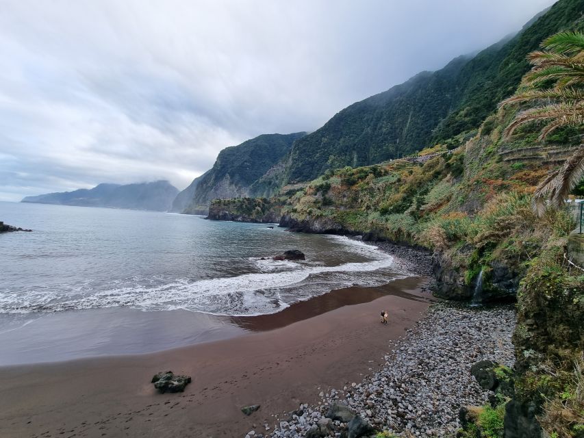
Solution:
[{"label": "dark brown sand beach with footprints, beside the grey pebbles", "polygon": [[[264,422],[276,422],[272,414],[317,402],[321,389],[360,381],[378,368],[392,339],[427,309],[429,297],[420,292],[426,281],[340,289],[275,315],[231,318],[255,333],[230,339],[147,355],[0,368],[0,437],[264,432]],[[381,309],[390,314],[388,326],[379,324]],[[189,374],[193,382],[182,394],[157,394],[151,377],[166,370]],[[240,408],[248,404],[262,407],[246,417]]]}]

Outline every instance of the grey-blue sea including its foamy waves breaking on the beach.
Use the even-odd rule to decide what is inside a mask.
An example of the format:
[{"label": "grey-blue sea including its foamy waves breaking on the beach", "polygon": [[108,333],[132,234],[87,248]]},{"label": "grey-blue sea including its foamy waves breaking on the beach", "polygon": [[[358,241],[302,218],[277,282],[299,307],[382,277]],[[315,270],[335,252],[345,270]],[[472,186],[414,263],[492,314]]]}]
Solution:
[{"label": "grey-blue sea including its foamy waves breaking on the beach", "polygon": [[[21,350],[36,348],[22,340],[36,336],[23,327],[47,315],[82,312],[91,320],[104,309],[122,308],[260,315],[331,289],[381,285],[396,276],[392,258],[373,246],[266,224],[1,202],[0,220],[34,230],[0,235],[2,348],[16,338]],[[306,261],[270,259],[294,248]],[[64,318],[49,318],[45,331],[51,320],[63,324]],[[6,337],[13,331],[14,339]],[[12,362],[0,357],[0,364]]]}]

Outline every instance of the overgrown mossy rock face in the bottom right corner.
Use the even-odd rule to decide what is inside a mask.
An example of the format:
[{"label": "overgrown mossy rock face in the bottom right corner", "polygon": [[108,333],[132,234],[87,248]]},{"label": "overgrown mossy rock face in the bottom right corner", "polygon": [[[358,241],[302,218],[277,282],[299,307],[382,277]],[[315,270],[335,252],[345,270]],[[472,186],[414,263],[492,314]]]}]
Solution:
[{"label": "overgrown mossy rock face in the bottom right corner", "polygon": [[505,415],[507,438],[542,437],[539,421],[553,400],[559,400],[561,411],[574,415],[562,397],[576,391],[570,389],[574,361],[584,351],[584,281],[563,268],[563,250],[550,248],[539,255],[522,281],[513,333],[514,393]]}]

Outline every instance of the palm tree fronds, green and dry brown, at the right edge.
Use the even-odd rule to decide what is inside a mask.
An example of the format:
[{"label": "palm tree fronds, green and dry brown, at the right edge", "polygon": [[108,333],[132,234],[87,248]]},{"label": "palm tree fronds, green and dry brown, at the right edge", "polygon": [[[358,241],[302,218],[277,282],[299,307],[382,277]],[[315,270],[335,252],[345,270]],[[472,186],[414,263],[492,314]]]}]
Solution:
[{"label": "palm tree fronds, green and dry brown, at the right edge", "polygon": [[[513,96],[499,107],[528,103],[531,107],[517,114],[505,129],[509,138],[516,129],[529,123],[544,126],[538,140],[558,128],[584,123],[584,34],[561,32],[542,42],[541,51],[528,55],[533,68]],[[546,208],[561,207],[570,191],[584,177],[584,144],[566,162],[544,179],[533,195],[533,207],[541,215]]]}]

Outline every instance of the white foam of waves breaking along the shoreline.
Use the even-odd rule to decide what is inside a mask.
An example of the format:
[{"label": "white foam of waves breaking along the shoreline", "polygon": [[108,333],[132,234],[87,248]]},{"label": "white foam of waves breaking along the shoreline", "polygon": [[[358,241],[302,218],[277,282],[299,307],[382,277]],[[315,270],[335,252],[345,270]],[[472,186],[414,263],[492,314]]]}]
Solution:
[{"label": "white foam of waves breaking along the shoreline", "polygon": [[[389,268],[393,258],[376,247],[342,236],[331,239],[351,246],[370,261],[322,266],[320,263],[255,259],[260,272],[232,277],[188,281],[142,279],[125,281],[109,290],[58,294],[47,290],[0,294],[0,313],[52,312],[69,309],[132,307],[144,311],[186,309],[223,315],[275,313],[292,302],[348,285],[377,285],[385,274],[370,274]],[[368,274],[362,275],[361,273]],[[312,281],[311,281],[312,280]],[[164,283],[164,284],[160,284]]]}]

